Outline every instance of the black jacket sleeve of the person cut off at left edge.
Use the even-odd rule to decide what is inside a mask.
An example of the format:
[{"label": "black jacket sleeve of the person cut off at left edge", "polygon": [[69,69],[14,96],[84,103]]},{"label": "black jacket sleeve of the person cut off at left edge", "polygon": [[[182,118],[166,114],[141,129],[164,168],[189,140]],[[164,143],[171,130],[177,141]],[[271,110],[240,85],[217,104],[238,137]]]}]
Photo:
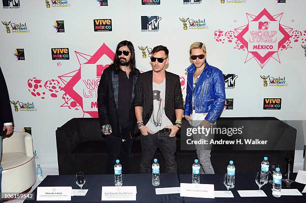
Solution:
[{"label": "black jacket sleeve of the person cut off at left edge", "polygon": [[3,129],[3,123],[13,122],[11,108],[8,98],[8,91],[0,68],[0,131]]}]

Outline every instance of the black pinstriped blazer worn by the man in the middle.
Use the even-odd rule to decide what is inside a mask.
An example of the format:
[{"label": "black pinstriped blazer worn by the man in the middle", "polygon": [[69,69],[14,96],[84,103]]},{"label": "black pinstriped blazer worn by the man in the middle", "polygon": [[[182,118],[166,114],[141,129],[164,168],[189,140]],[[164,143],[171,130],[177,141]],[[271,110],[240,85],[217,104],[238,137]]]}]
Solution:
[{"label": "black pinstriped blazer worn by the man in the middle", "polygon": [[[142,120],[143,124],[149,121],[153,112],[153,81],[152,70],[141,73],[138,76],[135,97],[133,106],[142,107]],[[175,124],[176,116],[175,109],[184,109],[183,99],[180,88],[179,76],[165,71],[165,106],[164,112],[168,119]]]}]

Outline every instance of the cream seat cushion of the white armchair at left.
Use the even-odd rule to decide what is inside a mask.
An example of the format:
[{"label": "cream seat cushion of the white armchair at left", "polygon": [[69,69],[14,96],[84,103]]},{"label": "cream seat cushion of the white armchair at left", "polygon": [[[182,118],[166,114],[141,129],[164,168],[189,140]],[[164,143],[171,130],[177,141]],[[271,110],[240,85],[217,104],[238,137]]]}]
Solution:
[{"label": "cream seat cushion of the white armchair at left", "polygon": [[20,152],[9,152],[2,154],[1,166],[4,170],[19,167],[29,162],[33,157],[27,157]]}]

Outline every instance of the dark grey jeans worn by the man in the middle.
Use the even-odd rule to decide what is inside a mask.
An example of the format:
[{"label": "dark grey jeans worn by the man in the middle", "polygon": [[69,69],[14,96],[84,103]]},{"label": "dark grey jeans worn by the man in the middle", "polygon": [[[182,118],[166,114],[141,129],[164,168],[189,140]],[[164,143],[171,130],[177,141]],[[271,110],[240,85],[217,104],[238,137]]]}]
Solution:
[{"label": "dark grey jeans worn by the man in the middle", "polygon": [[176,173],[175,161],[176,137],[169,137],[169,133],[155,133],[147,136],[141,135],[141,161],[140,173],[151,173],[151,161],[159,148],[164,161],[165,172]]}]

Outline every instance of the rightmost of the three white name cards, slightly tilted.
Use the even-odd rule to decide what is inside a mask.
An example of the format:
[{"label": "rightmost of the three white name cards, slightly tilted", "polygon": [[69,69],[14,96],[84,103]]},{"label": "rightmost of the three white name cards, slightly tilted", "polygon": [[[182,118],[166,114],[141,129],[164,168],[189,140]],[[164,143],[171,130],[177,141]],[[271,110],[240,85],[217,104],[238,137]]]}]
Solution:
[{"label": "rightmost of the three white name cards, slightly tilted", "polygon": [[181,183],[180,197],[214,198],[214,185]]}]

